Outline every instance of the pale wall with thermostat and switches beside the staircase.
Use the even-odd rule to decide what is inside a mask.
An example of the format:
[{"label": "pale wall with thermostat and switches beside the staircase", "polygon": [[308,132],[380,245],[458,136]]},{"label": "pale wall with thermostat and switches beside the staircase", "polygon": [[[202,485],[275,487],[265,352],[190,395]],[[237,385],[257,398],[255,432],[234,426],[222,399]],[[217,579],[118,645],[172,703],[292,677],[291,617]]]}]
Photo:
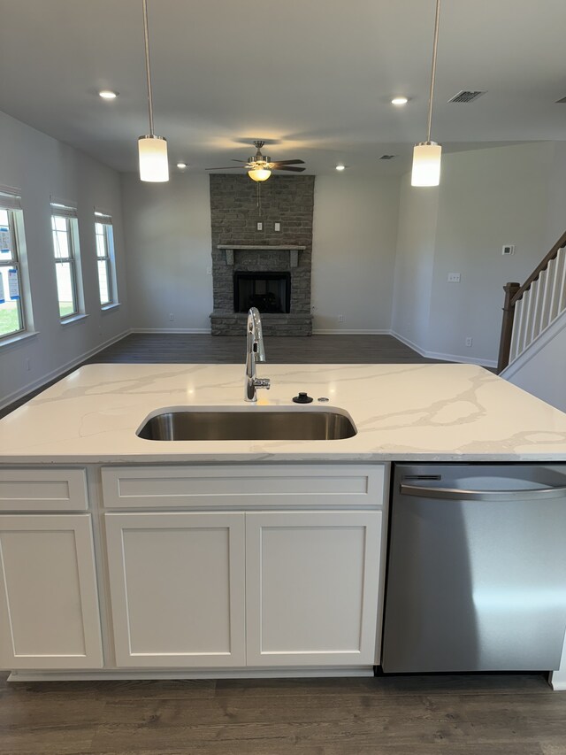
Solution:
[{"label": "pale wall with thermostat and switches beside the staircase", "polygon": [[[507,281],[523,282],[549,248],[554,147],[532,143],[446,154],[439,189],[403,184],[394,329],[427,355],[496,362],[502,287]],[[420,194],[429,191],[439,192],[433,255],[432,219],[424,225]],[[432,197],[430,202],[433,212]],[[421,230],[424,241],[419,241]],[[512,257],[501,255],[507,243],[516,245]],[[416,267],[423,244],[432,264],[427,325],[424,298],[417,311],[411,302],[421,282],[424,290],[429,286],[430,270]],[[448,283],[448,273],[460,273],[461,282]],[[403,320],[406,310],[412,314]],[[473,339],[471,348],[465,346],[467,336]]]}]

